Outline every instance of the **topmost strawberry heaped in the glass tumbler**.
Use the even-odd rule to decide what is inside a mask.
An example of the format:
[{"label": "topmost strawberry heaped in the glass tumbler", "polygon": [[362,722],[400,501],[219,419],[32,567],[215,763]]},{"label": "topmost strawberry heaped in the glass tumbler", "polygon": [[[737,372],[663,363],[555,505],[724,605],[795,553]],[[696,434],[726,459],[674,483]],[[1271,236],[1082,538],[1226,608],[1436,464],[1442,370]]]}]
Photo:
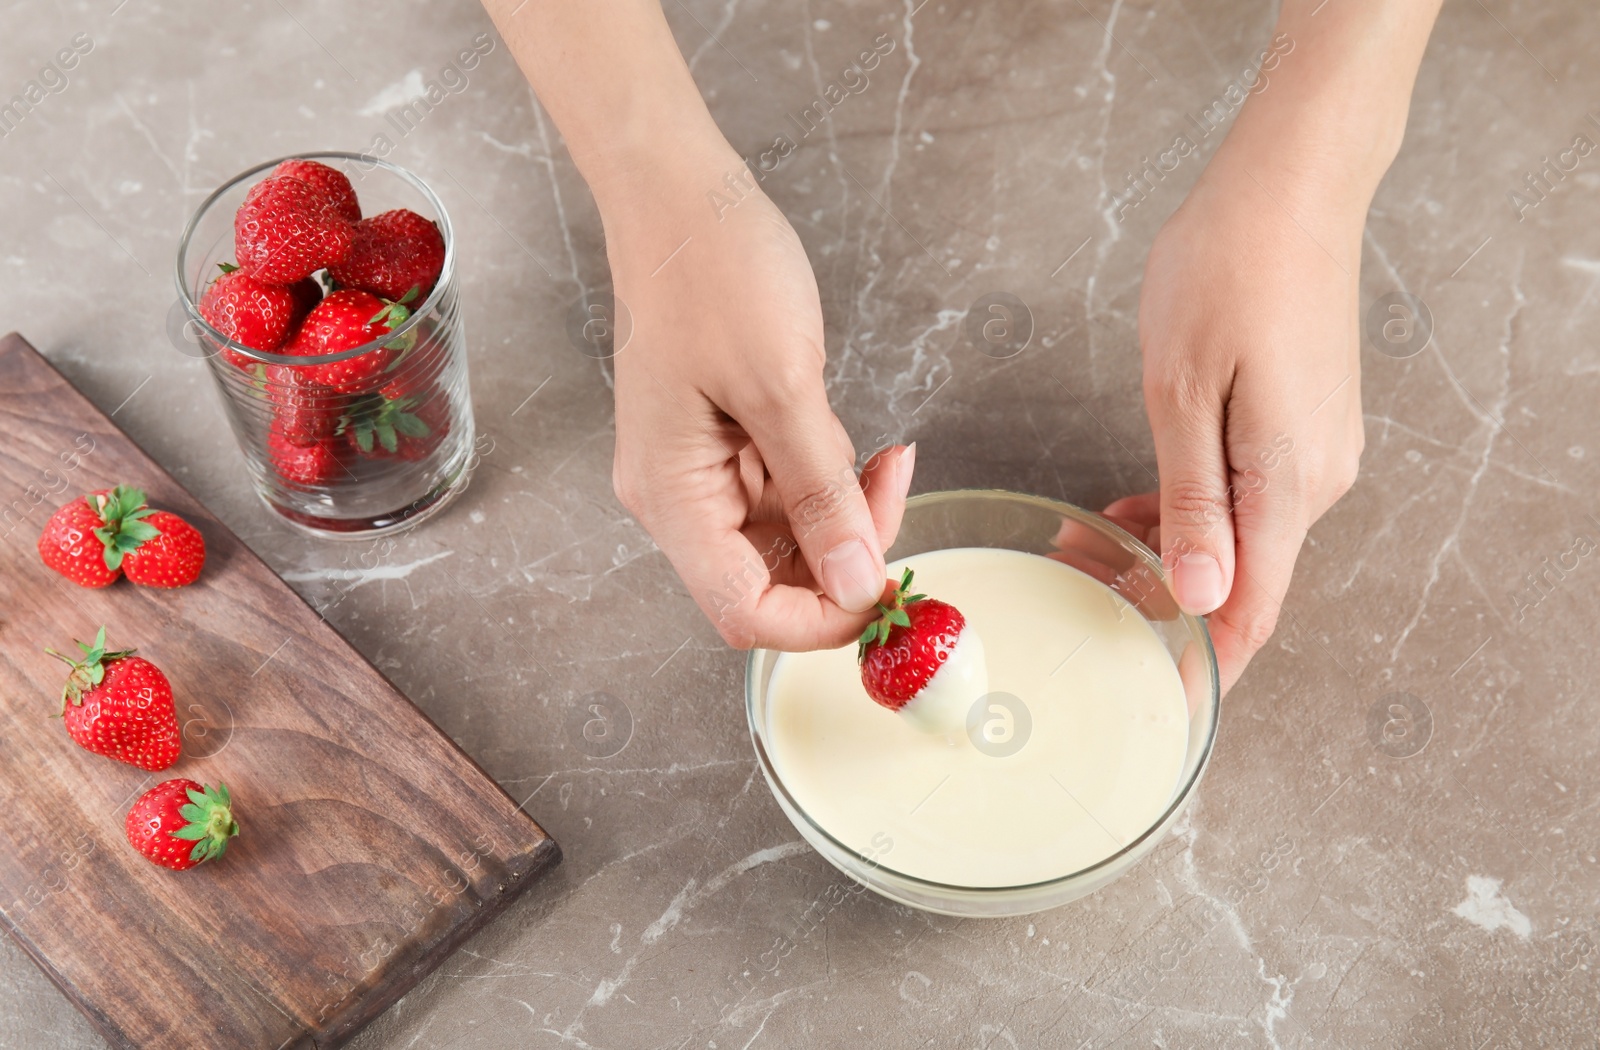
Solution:
[{"label": "topmost strawberry heaped in the glass tumbler", "polygon": [[318,190],[291,176],[269,176],[234,214],[238,266],[269,285],[293,285],[350,253],[350,222]]}]

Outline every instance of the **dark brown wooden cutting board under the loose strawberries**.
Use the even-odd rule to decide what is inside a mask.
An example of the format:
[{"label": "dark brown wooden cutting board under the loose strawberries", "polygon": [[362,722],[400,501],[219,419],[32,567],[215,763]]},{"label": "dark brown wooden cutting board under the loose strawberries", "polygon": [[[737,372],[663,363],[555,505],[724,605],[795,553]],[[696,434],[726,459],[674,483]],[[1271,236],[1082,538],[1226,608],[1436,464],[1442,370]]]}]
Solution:
[{"label": "dark brown wooden cutting board under the loose strawberries", "polygon": [[[117,482],[200,528],[197,584],[91,591],[45,568],[50,514]],[[560,858],[16,335],[0,339],[0,919],[110,1045],[336,1047]],[[99,624],[173,683],[184,757],[170,770],[82,751],[50,717],[66,667],[43,647],[75,651]],[[243,829],[187,872],[123,836],[133,799],[173,776],[226,781]]]}]

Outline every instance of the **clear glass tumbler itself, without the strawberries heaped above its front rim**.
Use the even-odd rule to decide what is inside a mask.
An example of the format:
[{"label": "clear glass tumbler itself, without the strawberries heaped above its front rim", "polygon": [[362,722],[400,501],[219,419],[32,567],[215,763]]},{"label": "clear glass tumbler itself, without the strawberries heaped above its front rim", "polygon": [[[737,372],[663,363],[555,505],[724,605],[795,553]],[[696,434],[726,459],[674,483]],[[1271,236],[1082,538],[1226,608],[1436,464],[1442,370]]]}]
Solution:
[{"label": "clear glass tumbler itself, without the strawberries heaped above its front rim", "polygon": [[[317,536],[360,539],[437,514],[472,475],[472,399],[456,295],[456,246],[445,205],[422,179],[376,157],[301,154],[344,171],[362,214],[410,208],[445,240],[445,264],[422,303],[381,339],[314,357],[267,354],[224,338],[200,317],[218,264],[234,262],[234,213],[282,160],[269,160],[211,194],[178,245],[181,336],[206,359],[222,392],[245,469],[261,499],[290,525]],[[341,394],[318,368],[381,355],[370,391]],[[370,360],[370,359],[363,359]]]}]

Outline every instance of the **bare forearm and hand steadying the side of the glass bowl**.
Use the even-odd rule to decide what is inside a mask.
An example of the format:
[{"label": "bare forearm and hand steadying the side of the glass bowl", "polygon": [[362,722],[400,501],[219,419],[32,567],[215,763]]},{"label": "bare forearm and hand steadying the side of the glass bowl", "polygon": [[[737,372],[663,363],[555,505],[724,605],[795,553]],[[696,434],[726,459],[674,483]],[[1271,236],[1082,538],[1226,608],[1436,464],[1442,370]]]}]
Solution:
[{"label": "bare forearm and hand steadying the side of the glass bowl", "polygon": [[1211,615],[1224,690],[1272,635],[1306,531],[1355,480],[1362,232],[1438,6],[1286,0],[1267,83],[1150,248],[1139,343],[1160,491],[1106,512],[1162,551],[1179,605]]}]

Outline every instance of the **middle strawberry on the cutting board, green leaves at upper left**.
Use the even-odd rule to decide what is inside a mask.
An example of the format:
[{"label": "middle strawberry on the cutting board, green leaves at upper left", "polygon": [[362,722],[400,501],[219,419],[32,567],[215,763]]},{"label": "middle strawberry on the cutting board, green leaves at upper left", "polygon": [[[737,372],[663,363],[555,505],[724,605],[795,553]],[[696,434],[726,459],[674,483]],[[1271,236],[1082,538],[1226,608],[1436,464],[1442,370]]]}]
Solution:
[{"label": "middle strawberry on the cutting board, green leaves at upper left", "polygon": [[78,747],[141,770],[165,770],[182,751],[173,687],[133,650],[106,651],[106,627],[94,645],[77,643],[83,661],[46,648],[72,667],[61,690],[61,714]]}]

